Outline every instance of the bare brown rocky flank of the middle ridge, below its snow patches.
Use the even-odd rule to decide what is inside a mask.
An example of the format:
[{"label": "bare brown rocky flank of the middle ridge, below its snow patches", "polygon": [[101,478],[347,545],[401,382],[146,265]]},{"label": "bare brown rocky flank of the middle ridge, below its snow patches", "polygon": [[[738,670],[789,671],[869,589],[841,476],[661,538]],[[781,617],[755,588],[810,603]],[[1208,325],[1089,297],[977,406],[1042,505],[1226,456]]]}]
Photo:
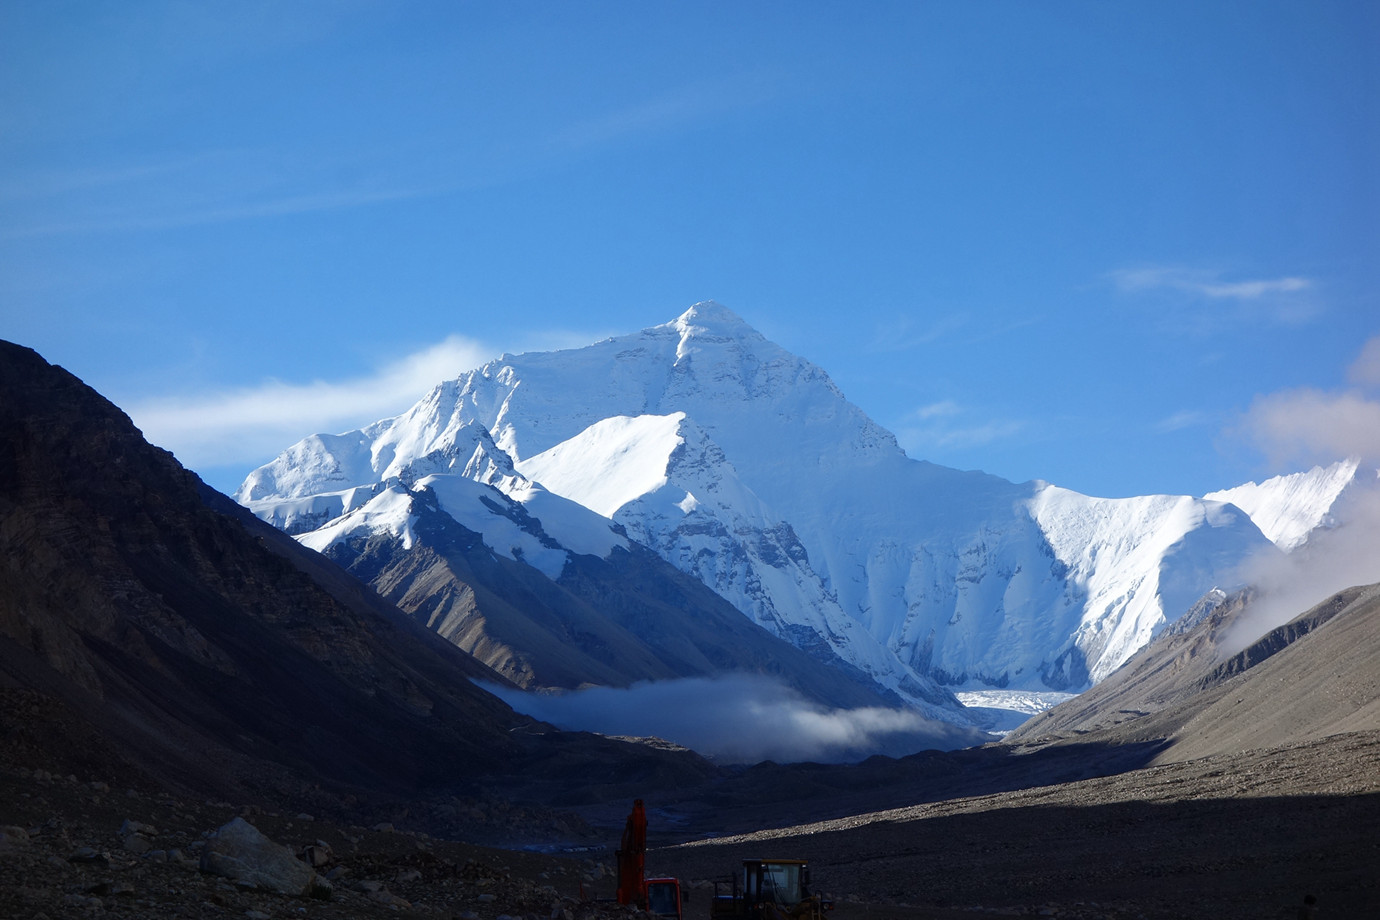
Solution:
[{"label": "bare brown rocky flank of the middle ridge, below its snow patches", "polygon": [[[511,514],[505,523],[545,534],[508,495],[432,474],[411,487],[389,484],[357,512],[301,541],[520,687],[621,687],[731,670],[770,676],[827,706],[894,702],[843,662],[822,668],[762,630],[636,542],[620,539],[606,554],[567,554],[551,539],[518,559],[494,553],[448,513],[476,491],[486,509]],[[614,534],[607,521],[602,526]],[[540,553],[569,556],[558,578],[529,564]],[[934,702],[958,709],[938,692]]]}]

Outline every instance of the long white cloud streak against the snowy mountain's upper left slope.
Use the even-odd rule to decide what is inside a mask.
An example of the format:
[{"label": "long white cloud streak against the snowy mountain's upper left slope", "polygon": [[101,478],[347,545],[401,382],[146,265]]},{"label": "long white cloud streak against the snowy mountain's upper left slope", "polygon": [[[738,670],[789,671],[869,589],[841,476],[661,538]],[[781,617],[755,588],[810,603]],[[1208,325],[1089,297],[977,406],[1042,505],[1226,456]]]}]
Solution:
[{"label": "long white cloud streak against the snowy mountain's upper left slope", "polygon": [[145,437],[193,469],[265,462],[308,434],[367,425],[406,410],[440,381],[493,357],[453,335],[439,345],[345,381],[284,383],[152,399],[126,407]]}]

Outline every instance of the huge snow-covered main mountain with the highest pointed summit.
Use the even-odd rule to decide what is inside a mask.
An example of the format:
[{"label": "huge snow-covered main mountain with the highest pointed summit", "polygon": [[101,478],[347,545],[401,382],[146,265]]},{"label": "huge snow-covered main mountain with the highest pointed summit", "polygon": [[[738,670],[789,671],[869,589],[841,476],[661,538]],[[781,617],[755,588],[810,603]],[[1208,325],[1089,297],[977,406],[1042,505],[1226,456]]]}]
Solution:
[{"label": "huge snow-covered main mountain with the highest pointed summit", "polygon": [[571,553],[633,541],[776,636],[930,705],[948,699],[936,681],[1100,680],[1241,560],[1283,552],[1253,516],[1322,521],[1336,492],[1308,483],[1248,513],[915,461],[822,370],[709,302],[588,348],[505,354],[397,418],[298,443],[236,498],[328,548],[402,535],[399,512],[362,510],[426,486],[493,552],[558,579]]}]

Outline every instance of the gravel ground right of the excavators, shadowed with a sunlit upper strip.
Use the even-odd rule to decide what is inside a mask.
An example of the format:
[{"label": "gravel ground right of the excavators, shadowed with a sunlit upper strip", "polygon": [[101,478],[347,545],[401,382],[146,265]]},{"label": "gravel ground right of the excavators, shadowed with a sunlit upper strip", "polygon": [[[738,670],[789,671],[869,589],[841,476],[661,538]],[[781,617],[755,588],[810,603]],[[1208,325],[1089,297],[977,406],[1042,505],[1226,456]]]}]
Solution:
[{"label": "gravel ground right of the excavators, shadowed with a sunlit upper strip", "polygon": [[838,920],[1294,920],[1305,894],[1319,919],[1373,919],[1380,732],[696,841],[647,861],[705,877],[751,855],[810,859]]}]

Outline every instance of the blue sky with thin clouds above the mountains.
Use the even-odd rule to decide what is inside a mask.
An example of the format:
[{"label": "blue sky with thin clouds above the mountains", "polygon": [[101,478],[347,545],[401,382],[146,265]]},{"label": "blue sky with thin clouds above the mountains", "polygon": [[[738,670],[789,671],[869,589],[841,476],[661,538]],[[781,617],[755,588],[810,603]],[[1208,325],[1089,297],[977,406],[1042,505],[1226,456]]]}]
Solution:
[{"label": "blue sky with thin clouds above the mountains", "polygon": [[912,457],[1202,494],[1380,455],[1377,47],[1365,1],[11,0],[0,338],[230,491],[713,298]]}]

